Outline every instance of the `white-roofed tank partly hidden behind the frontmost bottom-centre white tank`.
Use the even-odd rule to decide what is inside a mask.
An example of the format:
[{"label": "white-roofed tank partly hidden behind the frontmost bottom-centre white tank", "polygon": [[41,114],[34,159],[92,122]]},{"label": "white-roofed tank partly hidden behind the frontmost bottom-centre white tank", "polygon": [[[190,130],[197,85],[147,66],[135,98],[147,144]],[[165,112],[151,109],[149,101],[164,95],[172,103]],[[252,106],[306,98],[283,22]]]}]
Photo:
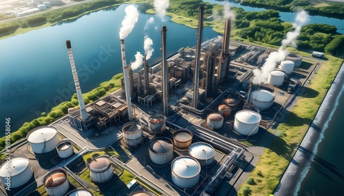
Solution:
[{"label": "white-roofed tank partly hidden behind the frontmost bottom-centre white tank", "polygon": [[193,143],[189,148],[189,155],[200,162],[202,167],[208,167],[214,161],[215,149],[208,143]]}]

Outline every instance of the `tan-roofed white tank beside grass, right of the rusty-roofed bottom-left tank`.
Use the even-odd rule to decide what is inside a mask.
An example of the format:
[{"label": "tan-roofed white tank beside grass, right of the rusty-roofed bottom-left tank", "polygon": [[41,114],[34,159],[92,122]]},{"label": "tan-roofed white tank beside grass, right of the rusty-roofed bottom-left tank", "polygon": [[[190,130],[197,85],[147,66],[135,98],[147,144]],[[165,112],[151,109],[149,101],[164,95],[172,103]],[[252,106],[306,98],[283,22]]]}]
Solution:
[{"label": "tan-roofed white tank beside grass, right of the rusty-roofed bottom-left tank", "polygon": [[89,173],[92,182],[103,183],[110,180],[114,174],[109,156],[98,156],[89,163]]}]

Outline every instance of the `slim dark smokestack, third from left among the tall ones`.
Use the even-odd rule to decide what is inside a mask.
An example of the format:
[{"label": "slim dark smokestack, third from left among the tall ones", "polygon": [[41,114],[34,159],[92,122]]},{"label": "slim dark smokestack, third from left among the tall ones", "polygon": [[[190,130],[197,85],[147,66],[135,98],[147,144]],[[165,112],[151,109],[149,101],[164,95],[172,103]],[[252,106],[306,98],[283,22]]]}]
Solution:
[{"label": "slim dark smokestack, third from left among the tall ones", "polygon": [[162,47],[162,101],[164,103],[164,114],[169,115],[169,88],[167,77],[167,60],[166,60],[166,26],[161,29],[161,47]]}]

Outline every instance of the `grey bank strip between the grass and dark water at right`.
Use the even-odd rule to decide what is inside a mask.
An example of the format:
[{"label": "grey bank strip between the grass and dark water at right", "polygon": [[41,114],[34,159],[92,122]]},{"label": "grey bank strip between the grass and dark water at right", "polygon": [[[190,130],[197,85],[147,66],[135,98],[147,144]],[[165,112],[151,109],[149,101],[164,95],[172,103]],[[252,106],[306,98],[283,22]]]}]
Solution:
[{"label": "grey bank strip between the grass and dark water at right", "polygon": [[323,138],[323,132],[327,128],[328,117],[333,115],[336,105],[338,105],[338,95],[341,93],[344,84],[344,62],[338,71],[334,82],[327,91],[325,99],[321,103],[316,117],[312,121],[307,134],[299,145],[297,152],[294,154],[292,161],[288,165],[274,195],[296,195],[297,189],[308,173],[308,168],[314,159],[316,148]]}]

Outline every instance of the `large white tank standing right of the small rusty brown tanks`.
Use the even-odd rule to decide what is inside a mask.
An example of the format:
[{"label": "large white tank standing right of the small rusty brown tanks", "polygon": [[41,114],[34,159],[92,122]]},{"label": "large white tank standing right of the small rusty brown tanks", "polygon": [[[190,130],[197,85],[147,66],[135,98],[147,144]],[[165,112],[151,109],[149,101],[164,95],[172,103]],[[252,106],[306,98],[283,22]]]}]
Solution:
[{"label": "large white tank standing right of the small rusty brown tanks", "polygon": [[251,110],[241,110],[235,114],[234,130],[241,135],[257,134],[261,115]]}]

